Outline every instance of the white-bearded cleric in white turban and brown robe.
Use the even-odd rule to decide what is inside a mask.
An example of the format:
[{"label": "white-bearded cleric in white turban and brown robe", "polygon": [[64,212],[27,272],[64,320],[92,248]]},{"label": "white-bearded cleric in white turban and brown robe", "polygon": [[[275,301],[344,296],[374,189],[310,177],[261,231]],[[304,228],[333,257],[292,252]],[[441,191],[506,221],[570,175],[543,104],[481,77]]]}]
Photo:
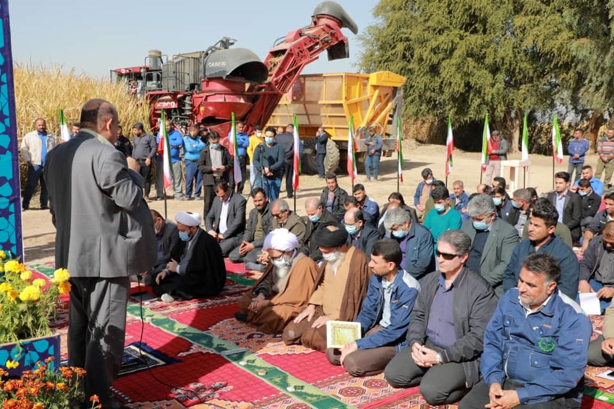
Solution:
[{"label": "white-bearded cleric in white turban and brown robe", "polygon": [[298,252],[298,238],[287,229],[265,237],[263,250],[270,263],[252,291],[239,299],[235,318],[258,331],[276,334],[306,307],[317,277],[317,265]]}]

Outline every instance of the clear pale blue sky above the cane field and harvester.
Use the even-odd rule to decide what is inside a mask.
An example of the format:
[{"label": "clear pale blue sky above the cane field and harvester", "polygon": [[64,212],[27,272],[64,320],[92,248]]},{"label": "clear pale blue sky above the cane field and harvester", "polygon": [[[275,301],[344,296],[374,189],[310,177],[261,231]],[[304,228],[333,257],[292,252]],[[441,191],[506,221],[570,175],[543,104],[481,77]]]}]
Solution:
[{"label": "clear pale blue sky above the cane field and harvester", "polygon": [[[96,77],[112,68],[139,66],[151,49],[173,55],[205,50],[223,36],[264,59],[278,37],[306,26],[320,0],[9,0],[14,61],[61,64]],[[373,21],[377,0],[340,0],[359,34]],[[304,74],[355,72],[359,44],[350,58],[328,61],[322,53]]]}]

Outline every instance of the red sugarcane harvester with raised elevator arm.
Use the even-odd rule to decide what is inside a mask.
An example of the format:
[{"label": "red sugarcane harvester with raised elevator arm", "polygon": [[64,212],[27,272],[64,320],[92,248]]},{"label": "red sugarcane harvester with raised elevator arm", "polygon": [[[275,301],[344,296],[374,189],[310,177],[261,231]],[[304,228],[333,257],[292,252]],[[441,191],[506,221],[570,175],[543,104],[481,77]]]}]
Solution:
[{"label": "red sugarcane harvester with raised elevator arm", "polygon": [[125,82],[135,97],[144,97],[151,107],[152,129],[165,110],[168,120],[181,128],[198,123],[225,137],[234,112],[249,133],[267,123],[303,67],[321,52],[327,50],[329,60],[348,58],[348,39],[341,28],[358,32],[343,7],[324,1],[314,10],[309,26],[274,43],[264,63],[246,48],[230,48],[236,40],[223,37],[203,52],[172,58],[149,52],[144,66],[115,69],[111,77]]}]

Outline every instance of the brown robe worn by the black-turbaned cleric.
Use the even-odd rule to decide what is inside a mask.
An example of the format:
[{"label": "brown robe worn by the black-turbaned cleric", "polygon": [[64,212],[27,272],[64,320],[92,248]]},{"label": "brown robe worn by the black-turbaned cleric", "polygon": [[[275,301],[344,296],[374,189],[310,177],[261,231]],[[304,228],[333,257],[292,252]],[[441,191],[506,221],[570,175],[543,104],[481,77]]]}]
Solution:
[{"label": "brown robe worn by the black-turbaned cleric", "polygon": [[[348,279],[346,280],[345,289],[343,292],[343,301],[341,302],[341,308],[339,312],[339,321],[355,321],[362,307],[362,302],[367,295],[367,287],[369,285],[369,279],[371,277],[371,270],[368,267],[368,259],[365,253],[358,250],[355,247],[351,254],[349,261]],[[317,287],[324,281],[324,272],[327,262],[322,262],[316,283],[313,291],[316,291]],[[312,291],[312,292],[313,292]],[[318,351],[326,351],[326,326],[323,325],[319,328],[311,327],[311,324],[319,317],[324,315],[321,305],[316,306],[316,313],[311,320],[303,319],[300,323],[294,323],[291,321],[284,332],[282,333],[282,339],[286,345],[302,344],[308,348]]]}]

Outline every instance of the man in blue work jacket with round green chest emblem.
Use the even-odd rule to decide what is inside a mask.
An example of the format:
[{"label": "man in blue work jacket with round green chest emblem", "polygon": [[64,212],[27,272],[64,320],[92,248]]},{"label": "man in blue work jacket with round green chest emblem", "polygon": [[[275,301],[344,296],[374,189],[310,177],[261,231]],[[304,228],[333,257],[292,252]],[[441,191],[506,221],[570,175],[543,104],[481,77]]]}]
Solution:
[{"label": "man in blue work jacket with round green chest emblem", "polygon": [[527,256],[518,288],[503,294],[484,332],[483,380],[459,409],[580,408],[593,328],[559,278],[552,256]]}]

